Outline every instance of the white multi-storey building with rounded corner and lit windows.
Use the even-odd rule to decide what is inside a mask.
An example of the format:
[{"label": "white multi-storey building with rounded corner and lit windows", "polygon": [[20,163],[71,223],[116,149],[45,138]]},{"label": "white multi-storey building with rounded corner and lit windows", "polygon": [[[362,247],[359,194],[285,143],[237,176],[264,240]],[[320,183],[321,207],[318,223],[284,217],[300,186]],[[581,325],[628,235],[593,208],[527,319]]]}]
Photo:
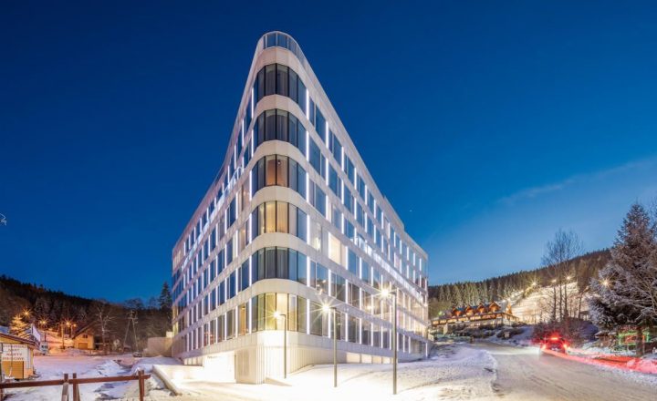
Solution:
[{"label": "white multi-storey building with rounded corner and lit windows", "polygon": [[396,298],[400,360],[426,356],[426,252],[287,34],[258,41],[228,145],[172,251],[173,355],[243,383],[331,363],[328,305],[339,362],[388,363]]}]

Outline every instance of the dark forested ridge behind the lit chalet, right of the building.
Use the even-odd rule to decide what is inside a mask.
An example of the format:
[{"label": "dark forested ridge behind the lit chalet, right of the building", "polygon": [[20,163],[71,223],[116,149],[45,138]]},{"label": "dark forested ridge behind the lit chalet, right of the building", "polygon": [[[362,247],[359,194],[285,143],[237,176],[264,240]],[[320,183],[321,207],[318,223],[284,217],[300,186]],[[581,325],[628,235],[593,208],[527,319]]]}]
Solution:
[{"label": "dark forested ridge behind the lit chalet, right of the building", "polygon": [[[610,260],[609,250],[589,252],[568,261],[572,280],[577,280],[579,291],[586,290],[590,278]],[[459,282],[429,287],[429,315],[463,304],[500,301],[511,293],[525,291],[534,283],[547,286],[557,277],[554,266],[540,267],[530,271],[513,272],[480,282]]]}]

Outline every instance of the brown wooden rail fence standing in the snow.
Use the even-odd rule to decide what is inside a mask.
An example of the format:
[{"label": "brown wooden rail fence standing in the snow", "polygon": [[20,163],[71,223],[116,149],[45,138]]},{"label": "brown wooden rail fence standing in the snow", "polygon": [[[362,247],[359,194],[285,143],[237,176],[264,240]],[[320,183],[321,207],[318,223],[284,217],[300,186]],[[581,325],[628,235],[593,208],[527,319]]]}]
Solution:
[{"label": "brown wooden rail fence standing in the snow", "polygon": [[104,377],[80,377],[78,378],[77,374],[71,375],[68,377],[68,374],[64,374],[63,379],[57,380],[36,380],[36,381],[25,381],[25,382],[11,382],[11,383],[0,383],[0,401],[4,399],[5,389],[7,388],[25,388],[25,387],[43,387],[43,386],[62,386],[62,396],[61,401],[82,401],[79,395],[79,386],[80,385],[89,385],[91,383],[111,383],[111,382],[128,382],[131,380],[139,381],[139,398],[140,401],[143,401],[144,396],[146,396],[146,379],[150,378],[151,375],[145,375],[143,370],[138,370],[136,375],[122,375],[122,376],[104,376]]}]

